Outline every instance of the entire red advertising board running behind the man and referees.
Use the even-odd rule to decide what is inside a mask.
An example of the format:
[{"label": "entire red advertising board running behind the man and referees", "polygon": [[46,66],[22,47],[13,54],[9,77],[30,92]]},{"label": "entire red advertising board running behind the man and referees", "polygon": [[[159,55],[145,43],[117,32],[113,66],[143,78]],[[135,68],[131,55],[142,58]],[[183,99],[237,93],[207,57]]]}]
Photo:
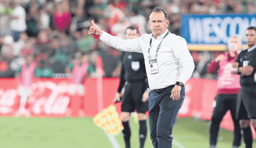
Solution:
[{"label": "entire red advertising board running behind the man and referees", "polygon": [[[89,78],[83,84],[84,94],[70,93],[71,79],[36,79],[30,88],[26,110],[30,117],[95,116],[113,104],[119,78]],[[178,117],[210,120],[212,102],[216,96],[217,81],[191,78],[185,84],[186,96]],[[20,103],[18,79],[0,79],[0,116],[17,116]],[[115,104],[121,112],[121,103]],[[81,114],[82,109],[82,114]],[[234,130],[230,112],[221,127]],[[256,134],[253,131],[254,138]]]}]

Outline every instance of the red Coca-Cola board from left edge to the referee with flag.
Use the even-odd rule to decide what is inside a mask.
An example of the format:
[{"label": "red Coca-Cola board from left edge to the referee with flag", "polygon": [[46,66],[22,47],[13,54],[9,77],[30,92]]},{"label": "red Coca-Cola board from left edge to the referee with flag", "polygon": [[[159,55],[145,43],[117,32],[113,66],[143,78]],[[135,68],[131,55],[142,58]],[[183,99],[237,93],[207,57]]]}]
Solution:
[{"label": "red Coca-Cola board from left edge to the referee with flag", "polygon": [[[28,91],[19,85],[19,79],[2,78],[0,79],[0,116],[95,116],[100,109],[108,107],[113,102],[119,84],[118,78],[100,78],[100,80],[88,78],[81,87],[72,84],[72,79],[35,79]],[[82,96],[81,88],[84,92]],[[22,91],[30,92],[24,112],[19,108],[22,104],[20,102]]]}]

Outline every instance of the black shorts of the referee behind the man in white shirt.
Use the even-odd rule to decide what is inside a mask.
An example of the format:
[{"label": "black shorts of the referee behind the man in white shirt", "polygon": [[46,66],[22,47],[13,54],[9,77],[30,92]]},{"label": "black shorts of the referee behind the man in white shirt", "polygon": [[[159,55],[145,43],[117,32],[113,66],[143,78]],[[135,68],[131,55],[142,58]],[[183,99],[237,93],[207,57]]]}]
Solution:
[{"label": "black shorts of the referee behind the man in white shirt", "polygon": [[124,89],[124,96],[122,97],[122,112],[145,113],[148,111],[148,101],[143,103],[142,95],[145,92],[145,82],[128,82]]}]

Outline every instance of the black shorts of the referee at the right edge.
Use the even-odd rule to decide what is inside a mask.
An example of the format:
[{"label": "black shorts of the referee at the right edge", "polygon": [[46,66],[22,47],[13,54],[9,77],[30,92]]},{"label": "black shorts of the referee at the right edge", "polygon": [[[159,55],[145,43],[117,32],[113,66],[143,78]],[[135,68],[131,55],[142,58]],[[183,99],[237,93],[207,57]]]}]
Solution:
[{"label": "black shorts of the referee at the right edge", "polygon": [[256,118],[256,88],[242,86],[237,99],[236,118],[240,120]]}]

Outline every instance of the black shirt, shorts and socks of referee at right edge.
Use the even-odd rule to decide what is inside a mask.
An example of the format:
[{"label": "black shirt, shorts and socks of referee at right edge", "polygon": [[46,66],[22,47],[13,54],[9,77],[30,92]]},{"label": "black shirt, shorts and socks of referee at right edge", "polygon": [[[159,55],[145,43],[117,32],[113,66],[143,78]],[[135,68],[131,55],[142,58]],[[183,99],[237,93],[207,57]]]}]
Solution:
[{"label": "black shirt, shorts and socks of referee at right edge", "polygon": [[[250,50],[250,51],[249,51]],[[254,67],[251,75],[241,76],[241,88],[238,93],[236,118],[239,120],[256,119],[256,82],[254,82],[254,73],[256,72],[256,49],[247,49],[242,51],[236,58],[238,67],[250,65]],[[254,127],[255,131],[256,128]],[[252,148],[252,130],[250,126],[241,127],[244,136],[246,148]]]}]

